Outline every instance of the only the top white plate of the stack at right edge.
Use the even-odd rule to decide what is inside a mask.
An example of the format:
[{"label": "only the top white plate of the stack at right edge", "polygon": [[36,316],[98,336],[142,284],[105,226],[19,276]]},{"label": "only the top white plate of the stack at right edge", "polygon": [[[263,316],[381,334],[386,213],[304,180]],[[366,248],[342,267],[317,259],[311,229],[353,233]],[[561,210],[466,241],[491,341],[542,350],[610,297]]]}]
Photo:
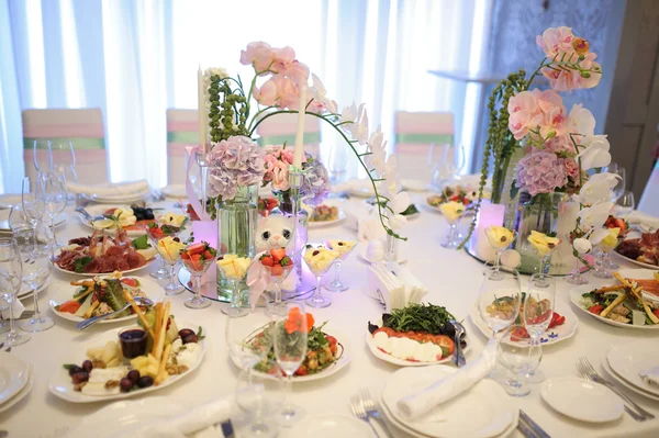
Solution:
[{"label": "only the top white plate of the stack at right edge", "polygon": [[659,386],[651,385],[639,375],[639,372],[651,367],[659,367],[659,355],[656,347],[647,342],[630,342],[611,347],[606,355],[608,366],[616,374],[646,392],[659,396]]}]

